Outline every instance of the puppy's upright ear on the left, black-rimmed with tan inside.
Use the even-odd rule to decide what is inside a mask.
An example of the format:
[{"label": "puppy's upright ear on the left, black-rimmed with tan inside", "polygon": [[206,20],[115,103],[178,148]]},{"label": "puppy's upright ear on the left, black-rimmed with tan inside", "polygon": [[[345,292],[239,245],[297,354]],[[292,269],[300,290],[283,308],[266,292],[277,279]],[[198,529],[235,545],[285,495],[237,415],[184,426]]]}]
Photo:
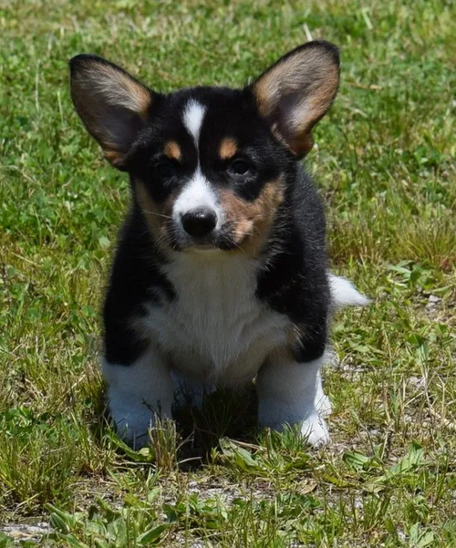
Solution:
[{"label": "puppy's upright ear on the left, black-rimmed with tan inside", "polygon": [[120,170],[157,94],[120,67],[90,55],[69,62],[71,98],[90,135]]}]

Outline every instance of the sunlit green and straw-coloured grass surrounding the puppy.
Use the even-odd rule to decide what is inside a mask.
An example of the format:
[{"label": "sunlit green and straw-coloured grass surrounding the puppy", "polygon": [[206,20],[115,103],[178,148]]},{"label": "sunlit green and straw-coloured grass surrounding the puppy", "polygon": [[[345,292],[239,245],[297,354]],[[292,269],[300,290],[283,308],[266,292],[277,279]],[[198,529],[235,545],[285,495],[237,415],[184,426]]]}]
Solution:
[{"label": "sunlit green and straw-coloured grass surrounding the puppy", "polygon": [[[456,546],[455,17],[451,0],[0,2],[0,546]],[[258,432],[254,396],[223,394],[132,451],[98,373],[128,181],[82,129],[67,59],[236,86],[310,36],[342,48],[343,79],[307,164],[334,269],[374,299],[333,328],[333,443]]]}]

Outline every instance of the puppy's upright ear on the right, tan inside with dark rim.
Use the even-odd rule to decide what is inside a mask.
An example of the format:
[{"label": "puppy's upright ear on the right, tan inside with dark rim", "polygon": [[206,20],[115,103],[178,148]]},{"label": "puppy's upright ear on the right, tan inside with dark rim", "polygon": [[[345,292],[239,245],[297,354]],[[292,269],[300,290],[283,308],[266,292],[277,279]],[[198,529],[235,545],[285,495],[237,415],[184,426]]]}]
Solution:
[{"label": "puppy's upright ear on the right, tan inside with dark rim", "polygon": [[323,40],[296,47],[251,87],[260,114],[295,156],[312,148],[311,131],[336,97],[339,55]]}]

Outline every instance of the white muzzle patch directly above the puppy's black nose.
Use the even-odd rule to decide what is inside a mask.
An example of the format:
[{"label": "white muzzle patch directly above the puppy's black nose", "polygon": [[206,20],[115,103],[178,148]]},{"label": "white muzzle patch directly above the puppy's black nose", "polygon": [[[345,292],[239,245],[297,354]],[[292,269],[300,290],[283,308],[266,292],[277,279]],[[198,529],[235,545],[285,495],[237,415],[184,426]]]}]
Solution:
[{"label": "white muzzle patch directly above the puppy's black nose", "polygon": [[219,224],[222,214],[220,205],[209,181],[198,167],[192,179],[183,187],[181,194],[174,202],[172,216],[177,220],[186,212],[200,208],[208,208],[215,212],[218,219],[217,224]]}]

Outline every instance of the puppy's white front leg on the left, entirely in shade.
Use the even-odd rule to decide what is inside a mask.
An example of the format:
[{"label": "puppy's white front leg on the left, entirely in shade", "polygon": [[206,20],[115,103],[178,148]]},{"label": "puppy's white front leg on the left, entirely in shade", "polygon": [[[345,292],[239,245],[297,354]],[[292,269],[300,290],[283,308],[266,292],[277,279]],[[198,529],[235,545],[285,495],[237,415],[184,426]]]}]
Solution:
[{"label": "puppy's white front leg on the left, entirely in shade", "polygon": [[119,435],[135,449],[148,444],[155,418],[171,418],[172,380],[160,352],[150,347],[132,364],[103,360],[109,411]]}]

